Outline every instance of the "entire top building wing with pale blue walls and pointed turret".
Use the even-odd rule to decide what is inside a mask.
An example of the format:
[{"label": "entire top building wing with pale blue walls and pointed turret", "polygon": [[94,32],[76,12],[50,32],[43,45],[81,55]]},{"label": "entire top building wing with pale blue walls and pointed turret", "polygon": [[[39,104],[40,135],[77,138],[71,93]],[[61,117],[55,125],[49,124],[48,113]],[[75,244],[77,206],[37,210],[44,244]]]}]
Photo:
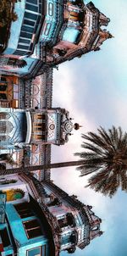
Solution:
[{"label": "entire top building wing with pale blue walls and pointed turret", "polygon": [[22,0],[14,3],[12,11],[18,18],[3,27],[0,70],[26,80],[99,50],[102,42],[112,37],[102,28],[109,19],[91,2]]}]

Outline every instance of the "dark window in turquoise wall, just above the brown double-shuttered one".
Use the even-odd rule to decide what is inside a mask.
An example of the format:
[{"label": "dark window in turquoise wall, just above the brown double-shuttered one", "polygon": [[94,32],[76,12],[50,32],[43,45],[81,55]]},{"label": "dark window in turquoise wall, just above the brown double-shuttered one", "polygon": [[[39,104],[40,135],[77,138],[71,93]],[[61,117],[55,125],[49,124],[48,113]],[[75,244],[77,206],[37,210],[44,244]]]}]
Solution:
[{"label": "dark window in turquoise wall, just above the brown double-shuttered one", "polygon": [[18,212],[21,219],[24,219],[24,218],[27,218],[27,217],[30,217],[33,215],[32,211],[30,209],[29,203],[14,204],[14,208]]}]

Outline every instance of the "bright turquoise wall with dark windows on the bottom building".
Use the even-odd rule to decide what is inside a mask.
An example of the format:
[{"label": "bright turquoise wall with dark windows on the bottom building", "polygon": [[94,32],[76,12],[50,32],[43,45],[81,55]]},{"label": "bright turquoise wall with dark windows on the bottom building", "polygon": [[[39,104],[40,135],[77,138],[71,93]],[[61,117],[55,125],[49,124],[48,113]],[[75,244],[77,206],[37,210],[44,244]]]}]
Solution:
[{"label": "bright turquoise wall with dark windows on the bottom building", "polygon": [[19,256],[53,255],[45,227],[46,220],[38,217],[34,207],[32,211],[30,208],[31,203],[6,205],[6,222],[0,225],[2,256],[14,255],[15,250]]}]

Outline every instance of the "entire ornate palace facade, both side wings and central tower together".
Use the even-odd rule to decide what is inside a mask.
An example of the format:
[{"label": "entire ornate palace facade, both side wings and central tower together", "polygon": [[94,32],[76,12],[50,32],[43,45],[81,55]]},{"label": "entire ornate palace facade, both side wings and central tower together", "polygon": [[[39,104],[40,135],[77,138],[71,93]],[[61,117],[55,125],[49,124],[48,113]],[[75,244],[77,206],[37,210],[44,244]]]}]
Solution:
[{"label": "entire ornate palace facade, both side wings and central tower together", "polygon": [[83,0],[21,0],[12,11],[17,19],[0,27],[0,170],[23,171],[0,175],[0,254],[75,253],[102,235],[102,220],[53,184],[50,170],[26,170],[50,164],[51,145],[79,129],[52,107],[52,68],[99,50],[112,37],[102,28],[109,19]]}]

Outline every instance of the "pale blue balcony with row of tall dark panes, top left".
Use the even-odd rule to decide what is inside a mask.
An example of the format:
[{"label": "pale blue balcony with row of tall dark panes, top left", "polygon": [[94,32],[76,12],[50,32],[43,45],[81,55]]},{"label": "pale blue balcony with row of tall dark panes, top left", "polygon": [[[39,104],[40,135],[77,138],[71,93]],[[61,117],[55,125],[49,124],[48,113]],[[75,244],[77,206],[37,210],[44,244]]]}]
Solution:
[{"label": "pale blue balcony with row of tall dark panes, top left", "polygon": [[8,45],[3,53],[30,55],[41,29],[42,1],[22,0],[14,4],[14,12],[18,19],[10,25]]}]

